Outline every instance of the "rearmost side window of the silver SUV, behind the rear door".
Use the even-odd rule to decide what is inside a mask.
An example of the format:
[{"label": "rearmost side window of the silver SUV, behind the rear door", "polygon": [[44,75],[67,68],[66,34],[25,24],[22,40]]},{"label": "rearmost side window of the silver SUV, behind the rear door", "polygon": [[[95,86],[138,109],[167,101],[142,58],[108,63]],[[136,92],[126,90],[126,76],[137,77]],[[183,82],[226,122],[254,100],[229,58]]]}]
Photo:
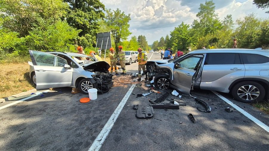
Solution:
[{"label": "rearmost side window of the silver SUV, behind the rear door", "polygon": [[244,64],[260,64],[269,62],[269,58],[257,54],[242,54]]}]

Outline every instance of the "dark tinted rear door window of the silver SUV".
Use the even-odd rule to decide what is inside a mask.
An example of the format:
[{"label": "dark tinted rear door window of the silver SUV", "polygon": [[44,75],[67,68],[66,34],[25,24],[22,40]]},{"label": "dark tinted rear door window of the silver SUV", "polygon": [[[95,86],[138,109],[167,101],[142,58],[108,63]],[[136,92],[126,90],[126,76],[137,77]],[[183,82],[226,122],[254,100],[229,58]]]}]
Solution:
[{"label": "dark tinted rear door window of the silver SUV", "polygon": [[205,65],[232,65],[241,64],[239,54],[236,53],[208,53]]}]

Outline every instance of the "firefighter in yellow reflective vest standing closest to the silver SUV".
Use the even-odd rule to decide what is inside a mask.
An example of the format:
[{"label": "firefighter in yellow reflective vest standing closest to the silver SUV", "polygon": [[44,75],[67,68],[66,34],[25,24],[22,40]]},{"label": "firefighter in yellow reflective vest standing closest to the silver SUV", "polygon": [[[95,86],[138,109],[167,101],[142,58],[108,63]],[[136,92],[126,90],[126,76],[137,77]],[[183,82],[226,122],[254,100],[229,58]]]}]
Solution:
[{"label": "firefighter in yellow reflective vest standing closest to the silver SUV", "polygon": [[138,79],[137,81],[141,81],[141,68],[143,70],[143,73],[146,75],[146,79],[148,79],[148,75],[146,74],[146,68],[145,64],[147,62],[147,55],[142,52],[141,48],[137,49],[138,55],[137,55],[137,62],[138,62]]}]

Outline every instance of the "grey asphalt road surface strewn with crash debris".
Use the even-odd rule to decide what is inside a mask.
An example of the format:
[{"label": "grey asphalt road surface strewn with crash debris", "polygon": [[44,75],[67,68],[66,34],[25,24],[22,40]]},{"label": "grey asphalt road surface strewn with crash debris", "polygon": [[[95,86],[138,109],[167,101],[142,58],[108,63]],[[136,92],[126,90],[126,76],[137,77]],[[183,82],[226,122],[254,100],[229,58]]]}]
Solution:
[{"label": "grey asphalt road surface strewn with crash debris", "polygon": [[[148,58],[158,60],[160,55],[154,52],[148,54]],[[137,72],[137,63],[126,65],[126,68],[128,73]],[[123,76],[114,78],[115,81],[124,81]],[[211,113],[198,111],[196,107],[202,109],[203,106],[192,97],[169,95],[168,99],[187,106],[181,106],[178,110],[154,109],[152,118],[137,119],[132,105],[148,106],[149,100],[154,101],[173,90],[155,91],[145,97],[137,97],[137,94],[149,92],[150,87],[146,87],[143,81],[129,83],[115,85],[89,103],[79,102],[80,98],[88,95],[71,94],[71,88],[64,87],[1,108],[0,150],[89,150],[93,147],[102,151],[264,151],[269,148],[269,133],[266,130],[238,110],[233,110],[211,91],[194,90],[192,93],[211,106]],[[269,117],[265,113],[250,104],[233,100],[229,94],[220,94],[269,125]],[[30,94],[5,101],[0,107],[28,96]],[[226,107],[231,107],[233,112],[226,112]],[[189,113],[193,114],[196,123],[191,122]],[[100,132],[104,132],[102,139],[98,137]],[[94,147],[96,144],[97,148]]]}]

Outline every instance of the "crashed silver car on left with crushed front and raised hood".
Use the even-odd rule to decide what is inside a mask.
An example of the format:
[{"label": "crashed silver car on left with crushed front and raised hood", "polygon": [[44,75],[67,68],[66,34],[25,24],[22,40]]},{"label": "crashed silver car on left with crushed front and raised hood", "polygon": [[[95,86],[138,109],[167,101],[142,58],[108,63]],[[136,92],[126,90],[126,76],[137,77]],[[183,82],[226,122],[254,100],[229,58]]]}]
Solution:
[{"label": "crashed silver car on left with crushed front and raised hood", "polygon": [[113,85],[110,65],[105,61],[80,53],[41,52],[29,50],[32,62],[29,76],[36,89],[69,86],[88,94],[96,88],[98,93],[109,91]]}]

